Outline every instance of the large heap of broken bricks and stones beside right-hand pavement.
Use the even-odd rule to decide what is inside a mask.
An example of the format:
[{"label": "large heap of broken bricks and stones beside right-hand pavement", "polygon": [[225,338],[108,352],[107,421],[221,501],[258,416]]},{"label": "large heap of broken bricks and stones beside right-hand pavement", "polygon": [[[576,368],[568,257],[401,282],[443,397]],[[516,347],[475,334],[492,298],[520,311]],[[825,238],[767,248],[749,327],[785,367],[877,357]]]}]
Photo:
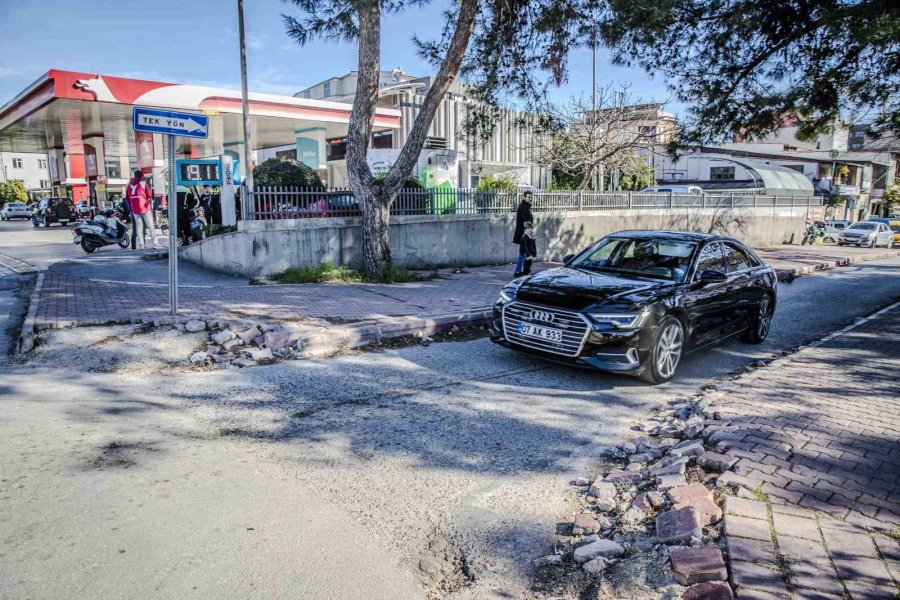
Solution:
[{"label": "large heap of broken bricks and stones beside right-hand pavement", "polygon": [[666,569],[661,586],[667,589],[657,590],[660,595],[733,598],[726,583],[723,499],[716,483],[738,459],[706,450],[699,439],[708,424],[708,404],[707,399],[677,400],[666,414],[656,409],[656,416],[633,427],[641,435],[616,448],[615,462],[601,475],[573,481],[582,512],[570,535],[558,539],[554,553],[537,565],[577,566],[588,576],[612,576],[608,571],[614,565],[645,554],[644,559]]}]

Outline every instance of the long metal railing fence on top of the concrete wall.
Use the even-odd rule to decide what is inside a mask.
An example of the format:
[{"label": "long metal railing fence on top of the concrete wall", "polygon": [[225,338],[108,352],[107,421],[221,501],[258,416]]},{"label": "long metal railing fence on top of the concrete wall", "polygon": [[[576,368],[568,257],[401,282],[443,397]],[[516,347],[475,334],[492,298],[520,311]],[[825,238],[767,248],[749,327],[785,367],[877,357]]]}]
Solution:
[{"label": "long metal railing fence on top of the concrete wall", "polygon": [[[659,208],[741,208],[754,206],[820,206],[814,196],[757,194],[675,194],[530,190],[533,212],[604,211]],[[472,215],[508,213],[523,190],[404,189],[391,206],[392,215]],[[346,188],[261,187],[250,194],[245,210],[250,220],[309,219],[359,216],[359,203]]]}]

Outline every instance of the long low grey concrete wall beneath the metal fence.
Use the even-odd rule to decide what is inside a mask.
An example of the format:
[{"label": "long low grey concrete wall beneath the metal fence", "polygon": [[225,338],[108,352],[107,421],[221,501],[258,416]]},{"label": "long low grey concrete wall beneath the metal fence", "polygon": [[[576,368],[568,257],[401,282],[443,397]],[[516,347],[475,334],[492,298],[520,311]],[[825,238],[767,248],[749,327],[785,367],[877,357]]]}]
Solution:
[{"label": "long low grey concrete wall beneath the metal fence", "polygon": [[[660,209],[536,213],[538,255],[559,260],[604,235],[624,229],[669,229],[728,234],[751,246],[799,241],[807,208]],[[396,264],[484,265],[513,262],[515,215],[408,216],[391,220]],[[181,256],[208,269],[257,277],[322,262],[358,266],[359,221],[350,218],[242,221],[237,233],[184,248]]]}]

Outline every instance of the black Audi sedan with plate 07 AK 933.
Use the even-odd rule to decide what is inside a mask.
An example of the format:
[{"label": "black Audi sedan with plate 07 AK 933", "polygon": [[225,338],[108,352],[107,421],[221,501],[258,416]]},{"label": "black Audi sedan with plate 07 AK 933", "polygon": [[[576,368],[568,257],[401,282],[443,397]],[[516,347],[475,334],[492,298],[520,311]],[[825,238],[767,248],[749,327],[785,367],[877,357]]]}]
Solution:
[{"label": "black Audi sedan with plate 07 AK 933", "polygon": [[775,271],[737,240],[623,231],[564,261],[503,288],[493,341],[663,383],[686,353],[735,335],[759,344],[769,333]]}]

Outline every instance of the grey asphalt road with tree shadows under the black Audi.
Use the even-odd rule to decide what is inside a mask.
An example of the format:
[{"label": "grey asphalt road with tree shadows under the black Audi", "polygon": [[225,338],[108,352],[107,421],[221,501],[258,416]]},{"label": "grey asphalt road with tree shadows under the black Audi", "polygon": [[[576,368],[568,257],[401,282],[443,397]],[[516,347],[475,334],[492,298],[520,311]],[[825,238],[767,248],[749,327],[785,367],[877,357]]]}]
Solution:
[{"label": "grey asphalt road with tree shadows under the black Audi", "polygon": [[[765,344],[658,387],[486,339],[164,376],[15,366],[0,597],[424,598],[434,561],[472,573],[453,598],[520,597],[572,516],[566,482],[651,407],[898,298],[900,259],[782,284]],[[119,352],[69,335],[98,364]]]}]

